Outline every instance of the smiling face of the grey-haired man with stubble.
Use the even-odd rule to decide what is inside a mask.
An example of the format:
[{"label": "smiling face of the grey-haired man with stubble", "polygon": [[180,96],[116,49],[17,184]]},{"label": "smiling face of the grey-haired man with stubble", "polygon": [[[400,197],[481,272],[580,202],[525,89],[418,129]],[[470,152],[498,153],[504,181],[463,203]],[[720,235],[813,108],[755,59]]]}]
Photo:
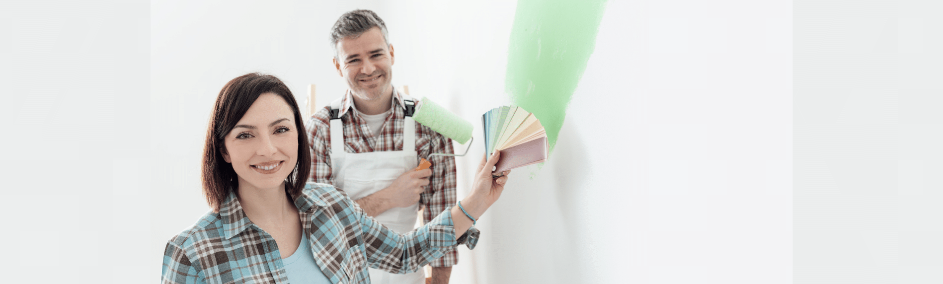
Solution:
[{"label": "smiling face of the grey-haired man with stubble", "polygon": [[356,98],[372,101],[392,92],[393,61],[393,46],[383,40],[380,27],[374,26],[356,39],[338,41],[334,67]]}]

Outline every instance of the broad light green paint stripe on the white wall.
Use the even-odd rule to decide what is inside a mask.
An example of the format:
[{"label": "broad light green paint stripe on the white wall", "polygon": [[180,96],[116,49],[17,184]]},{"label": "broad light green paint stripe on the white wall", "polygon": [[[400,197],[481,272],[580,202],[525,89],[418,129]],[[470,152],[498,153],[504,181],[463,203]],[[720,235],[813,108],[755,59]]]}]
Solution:
[{"label": "broad light green paint stripe on the white wall", "polygon": [[603,20],[605,0],[519,0],[505,90],[547,129],[553,152]]}]

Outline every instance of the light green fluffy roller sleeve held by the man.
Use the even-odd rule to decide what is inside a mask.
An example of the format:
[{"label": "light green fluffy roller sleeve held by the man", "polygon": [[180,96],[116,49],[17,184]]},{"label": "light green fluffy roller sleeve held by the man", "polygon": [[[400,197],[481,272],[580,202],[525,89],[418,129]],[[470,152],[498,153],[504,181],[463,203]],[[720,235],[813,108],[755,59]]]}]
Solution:
[{"label": "light green fluffy roller sleeve held by the man", "polygon": [[413,114],[413,120],[456,142],[464,144],[472,139],[472,130],[474,129],[472,123],[425,97],[422,97],[422,105]]}]

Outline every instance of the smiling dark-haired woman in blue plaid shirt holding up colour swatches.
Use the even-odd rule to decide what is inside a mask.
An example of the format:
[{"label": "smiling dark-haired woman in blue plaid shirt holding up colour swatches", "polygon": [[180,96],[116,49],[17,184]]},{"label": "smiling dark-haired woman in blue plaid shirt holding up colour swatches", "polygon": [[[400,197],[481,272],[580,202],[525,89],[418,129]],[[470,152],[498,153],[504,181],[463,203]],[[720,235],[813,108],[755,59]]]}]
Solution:
[{"label": "smiling dark-haired woman in blue plaid shirt holding up colour swatches", "polygon": [[509,173],[491,178],[497,152],[482,159],[472,194],[399,234],[333,186],[303,182],[311,157],[297,106],[273,75],[226,83],[203,157],[212,211],[167,242],[162,283],[369,283],[368,267],[405,274],[459,243],[474,248],[474,220],[500,197]]}]

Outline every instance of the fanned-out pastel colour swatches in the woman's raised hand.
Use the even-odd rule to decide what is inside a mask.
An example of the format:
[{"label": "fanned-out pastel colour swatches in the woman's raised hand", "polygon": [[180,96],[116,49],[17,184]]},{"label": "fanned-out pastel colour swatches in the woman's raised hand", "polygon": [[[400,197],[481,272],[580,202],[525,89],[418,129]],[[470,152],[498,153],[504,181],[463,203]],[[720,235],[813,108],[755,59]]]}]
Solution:
[{"label": "fanned-out pastel colour swatches in the woman's raised hand", "polygon": [[534,113],[521,107],[499,107],[485,112],[481,122],[488,156],[501,152],[495,173],[547,160],[547,131]]}]

